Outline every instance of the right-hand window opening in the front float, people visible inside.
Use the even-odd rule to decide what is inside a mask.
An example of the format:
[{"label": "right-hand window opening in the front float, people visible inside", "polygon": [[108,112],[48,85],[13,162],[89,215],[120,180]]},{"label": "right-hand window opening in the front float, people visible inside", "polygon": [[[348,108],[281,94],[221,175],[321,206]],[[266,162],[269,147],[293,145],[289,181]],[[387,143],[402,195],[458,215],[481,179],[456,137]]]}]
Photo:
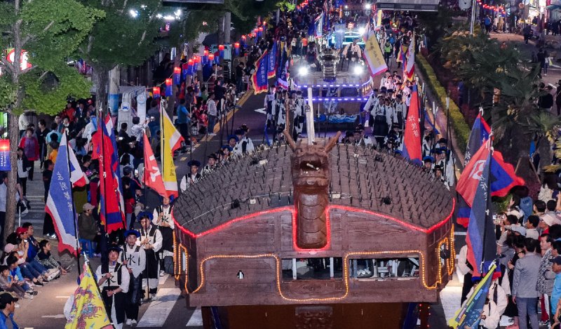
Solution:
[{"label": "right-hand window opening in the front float, people visible inside", "polygon": [[376,280],[418,278],[419,257],[349,259],[349,276]]}]

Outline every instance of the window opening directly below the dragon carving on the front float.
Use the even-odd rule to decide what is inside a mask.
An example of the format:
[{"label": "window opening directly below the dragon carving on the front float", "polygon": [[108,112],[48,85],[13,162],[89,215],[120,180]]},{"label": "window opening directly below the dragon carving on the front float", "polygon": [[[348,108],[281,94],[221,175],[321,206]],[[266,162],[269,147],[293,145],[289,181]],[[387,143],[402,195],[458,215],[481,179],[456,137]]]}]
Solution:
[{"label": "window opening directly below the dragon carving on the front float", "polygon": [[283,259],[283,281],[343,278],[342,257]]}]

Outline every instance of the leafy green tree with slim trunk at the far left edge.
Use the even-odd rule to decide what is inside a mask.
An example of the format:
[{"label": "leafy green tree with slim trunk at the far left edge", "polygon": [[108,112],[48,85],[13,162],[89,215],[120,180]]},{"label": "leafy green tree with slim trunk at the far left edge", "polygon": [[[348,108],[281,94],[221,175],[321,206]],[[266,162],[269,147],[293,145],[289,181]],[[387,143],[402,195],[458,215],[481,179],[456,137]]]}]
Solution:
[{"label": "leafy green tree with slim trunk at the far left edge", "polygon": [[[67,66],[67,58],[102,15],[75,0],[0,3],[0,46],[3,50],[13,48],[14,54],[12,61],[3,56],[0,62],[4,74],[0,77],[0,109],[9,115],[13,151],[18,147],[18,114],[23,110],[55,114],[64,108],[67,97],[88,95],[87,81]],[[20,67],[22,54],[31,67]],[[4,236],[13,231],[15,220],[15,152],[11,152],[10,161],[13,170],[8,175]]]}]

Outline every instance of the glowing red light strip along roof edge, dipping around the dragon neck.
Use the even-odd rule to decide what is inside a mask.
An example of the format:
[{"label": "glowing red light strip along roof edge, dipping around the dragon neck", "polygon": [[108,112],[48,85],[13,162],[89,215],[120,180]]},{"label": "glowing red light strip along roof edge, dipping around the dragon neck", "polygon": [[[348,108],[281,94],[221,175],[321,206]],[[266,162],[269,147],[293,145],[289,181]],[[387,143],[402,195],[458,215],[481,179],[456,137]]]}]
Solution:
[{"label": "glowing red light strip along roof edge, dipping around the dragon neck", "polygon": [[[417,225],[414,224],[410,224],[407,222],[403,222],[403,220],[398,220],[396,217],[391,217],[388,215],[384,215],[381,213],[376,213],[374,211],[371,210],[365,210],[365,209],[360,209],[360,208],[354,208],[354,207],[349,207],[349,206],[337,206],[337,205],[330,205],[327,206],[326,211],[326,215],[327,215],[327,244],[325,245],[325,247],[317,249],[317,250],[325,250],[327,248],[329,248],[329,246],[331,246],[331,227],[330,227],[330,210],[331,209],[342,209],[342,210],[347,210],[347,211],[352,211],[353,213],[365,213],[367,215],[374,215],[374,216],[379,216],[382,218],[385,218],[386,220],[392,220],[393,222],[397,222],[398,224],[401,224],[407,228],[410,229],[414,229],[416,231],[420,231],[423,233],[431,233],[432,231],[434,231],[435,229],[438,229],[439,227],[442,227],[444,224],[446,224],[446,222],[448,222],[448,220],[450,220],[450,218],[452,218],[452,215],[454,214],[454,208],[456,208],[456,200],[454,198],[452,198],[452,210],[450,210],[450,215],[448,215],[444,220],[441,220],[440,222],[438,222],[437,224],[434,224],[432,227],[428,228],[428,229],[424,229],[422,227],[418,227]],[[234,218],[234,220],[230,220],[229,222],[225,222],[224,224],[220,224],[217,227],[214,227],[212,229],[209,229],[207,231],[203,231],[201,233],[195,234],[191,231],[189,231],[189,229],[186,229],[184,227],[182,227],[182,224],[178,223],[177,220],[175,220],[175,216],[173,215],[173,210],[175,210],[175,207],[172,209],[172,218],[173,218],[173,222],[175,223],[175,227],[179,227],[180,230],[184,233],[187,234],[188,236],[191,236],[192,238],[199,238],[201,236],[205,236],[207,234],[212,234],[215,233],[217,231],[220,231],[222,229],[225,229],[226,227],[231,226],[231,224],[234,224],[235,222],[240,222],[242,220],[251,220],[255,217],[258,217],[260,215],[269,215],[271,213],[280,213],[283,211],[290,211],[290,213],[292,213],[292,246],[295,248],[295,250],[302,250],[302,251],[313,251],[315,249],[300,249],[297,248],[296,246],[296,211],[295,208],[293,208],[292,206],[285,206],[285,207],[280,207],[280,208],[273,208],[273,209],[269,209],[269,210],[264,210],[264,211],[259,211],[257,213],[252,213],[249,215],[243,215],[241,217],[237,217]]]}]

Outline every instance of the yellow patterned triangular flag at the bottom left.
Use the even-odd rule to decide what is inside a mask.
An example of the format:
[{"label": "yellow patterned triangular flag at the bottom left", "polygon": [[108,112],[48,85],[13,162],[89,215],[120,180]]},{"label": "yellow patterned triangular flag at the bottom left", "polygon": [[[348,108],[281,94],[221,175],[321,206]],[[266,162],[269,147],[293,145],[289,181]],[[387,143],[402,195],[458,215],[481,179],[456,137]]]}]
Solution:
[{"label": "yellow patterned triangular flag at the bottom left", "polygon": [[65,328],[113,328],[88,262],[83,264],[83,274],[74,291],[74,302]]}]

